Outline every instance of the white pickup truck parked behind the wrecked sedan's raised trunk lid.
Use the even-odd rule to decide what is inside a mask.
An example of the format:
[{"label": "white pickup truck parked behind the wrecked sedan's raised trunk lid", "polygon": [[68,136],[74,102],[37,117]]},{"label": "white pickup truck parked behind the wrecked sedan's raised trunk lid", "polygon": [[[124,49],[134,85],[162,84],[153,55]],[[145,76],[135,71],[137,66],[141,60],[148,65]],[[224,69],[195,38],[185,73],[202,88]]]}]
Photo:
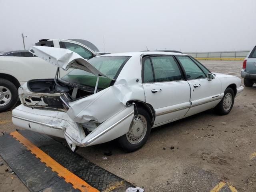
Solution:
[{"label": "white pickup truck parked behind the wrecked sedan's raised trunk lid", "polygon": [[[96,52],[82,43],[64,39],[42,39],[38,46],[66,48],[85,59]],[[18,100],[18,88],[31,79],[54,78],[56,67],[28,51],[11,51],[0,56],[0,112],[9,110]],[[60,76],[67,72],[60,70]]]}]

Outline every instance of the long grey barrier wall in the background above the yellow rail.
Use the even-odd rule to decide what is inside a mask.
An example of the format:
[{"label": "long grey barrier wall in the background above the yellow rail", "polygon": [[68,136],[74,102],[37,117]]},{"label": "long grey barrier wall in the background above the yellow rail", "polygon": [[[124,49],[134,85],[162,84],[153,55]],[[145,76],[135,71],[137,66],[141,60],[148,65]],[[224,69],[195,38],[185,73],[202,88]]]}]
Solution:
[{"label": "long grey barrier wall in the background above the yellow rail", "polygon": [[217,52],[184,52],[194,58],[242,58],[244,59],[250,51],[217,51]]}]

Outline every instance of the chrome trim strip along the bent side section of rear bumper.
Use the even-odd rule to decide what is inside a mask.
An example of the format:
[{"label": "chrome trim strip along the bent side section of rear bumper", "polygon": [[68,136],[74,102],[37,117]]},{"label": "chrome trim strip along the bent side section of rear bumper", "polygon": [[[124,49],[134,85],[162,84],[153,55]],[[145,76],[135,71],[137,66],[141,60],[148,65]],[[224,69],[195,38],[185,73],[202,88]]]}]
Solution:
[{"label": "chrome trim strip along the bent side section of rear bumper", "polygon": [[94,136],[93,138],[89,139],[88,141],[86,141],[84,143],[80,143],[80,142],[76,141],[74,138],[72,138],[66,132],[64,132],[64,135],[67,136],[70,140],[72,140],[72,142],[74,142],[74,144],[76,144],[77,146],[84,147],[84,146],[90,144],[91,142],[94,142],[96,139],[98,139],[100,136],[104,135],[108,131],[112,130],[112,128],[114,128],[118,124],[122,123],[124,120],[126,120],[128,117],[130,117],[133,114],[134,114],[134,111],[130,112],[128,115],[124,116],[122,119],[120,119],[119,121],[115,122],[110,127],[106,128],[105,130],[103,130],[102,132],[100,132],[99,134],[97,134],[96,136]]}]

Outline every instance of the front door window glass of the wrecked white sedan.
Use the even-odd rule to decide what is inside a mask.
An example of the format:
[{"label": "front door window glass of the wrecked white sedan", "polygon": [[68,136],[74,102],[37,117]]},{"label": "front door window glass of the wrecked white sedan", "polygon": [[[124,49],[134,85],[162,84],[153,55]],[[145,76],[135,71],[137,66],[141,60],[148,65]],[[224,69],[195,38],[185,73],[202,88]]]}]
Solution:
[{"label": "front door window glass of the wrecked white sedan", "polygon": [[188,80],[206,78],[206,74],[188,56],[177,56],[182,64]]}]

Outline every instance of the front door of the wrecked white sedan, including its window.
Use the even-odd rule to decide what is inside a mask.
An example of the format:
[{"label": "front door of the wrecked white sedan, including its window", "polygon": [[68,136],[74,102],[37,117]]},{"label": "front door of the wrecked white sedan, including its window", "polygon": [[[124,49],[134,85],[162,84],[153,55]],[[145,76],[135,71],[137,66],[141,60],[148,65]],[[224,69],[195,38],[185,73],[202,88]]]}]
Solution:
[{"label": "front door of the wrecked white sedan, including its window", "polygon": [[210,71],[190,56],[176,57],[184,68],[191,89],[191,107],[186,116],[214,108],[221,100],[220,80],[208,80]]}]

